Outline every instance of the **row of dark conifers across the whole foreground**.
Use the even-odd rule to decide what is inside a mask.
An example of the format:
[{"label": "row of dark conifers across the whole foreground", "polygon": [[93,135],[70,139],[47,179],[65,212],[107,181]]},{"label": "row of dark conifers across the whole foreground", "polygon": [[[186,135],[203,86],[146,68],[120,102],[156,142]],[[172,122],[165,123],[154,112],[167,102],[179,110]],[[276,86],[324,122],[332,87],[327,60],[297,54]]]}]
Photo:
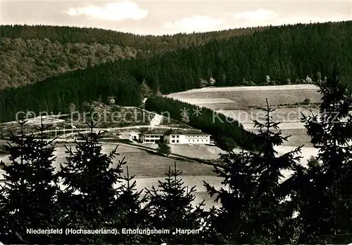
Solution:
[{"label": "row of dark conifers across the whole foreground", "polygon": [[[182,183],[177,165],[158,187],[138,191],[125,160],[111,167],[116,151],[101,152],[99,133],[82,135],[67,161],[53,168],[52,142],[13,135],[10,163],[0,190],[0,241],[20,244],[348,244],[351,231],[351,93],[338,74],[320,84],[320,115],[303,121],[317,157],[301,164],[301,147],[277,155],[288,139],[276,129],[270,108],[255,121],[260,150],[221,154],[215,172],[224,187],[204,183],[220,207],[195,208],[194,187]],[[41,126],[39,131],[46,128]],[[274,131],[275,130],[275,131]],[[245,135],[243,135],[245,138]],[[141,159],[142,161],[142,159]],[[122,170],[125,170],[123,174]],[[284,172],[292,171],[291,176]],[[60,185],[61,183],[61,185]],[[62,188],[62,186],[64,188]],[[24,205],[25,204],[25,205]],[[27,234],[27,229],[117,229],[96,234]],[[198,230],[194,234],[122,234],[122,228]]]}]

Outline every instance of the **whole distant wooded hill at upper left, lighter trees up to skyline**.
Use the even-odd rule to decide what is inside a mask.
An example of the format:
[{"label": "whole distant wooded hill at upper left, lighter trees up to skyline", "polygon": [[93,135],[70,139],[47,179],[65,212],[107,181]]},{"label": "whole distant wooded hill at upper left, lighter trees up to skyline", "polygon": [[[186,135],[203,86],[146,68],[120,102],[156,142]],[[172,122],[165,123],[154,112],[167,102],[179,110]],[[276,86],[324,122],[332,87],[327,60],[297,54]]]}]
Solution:
[{"label": "whole distant wooded hill at upper left, lighter trees up to skyline", "polygon": [[139,36],[97,28],[0,26],[0,89],[124,58],[145,58],[213,39],[251,34],[267,27],[221,32]]}]

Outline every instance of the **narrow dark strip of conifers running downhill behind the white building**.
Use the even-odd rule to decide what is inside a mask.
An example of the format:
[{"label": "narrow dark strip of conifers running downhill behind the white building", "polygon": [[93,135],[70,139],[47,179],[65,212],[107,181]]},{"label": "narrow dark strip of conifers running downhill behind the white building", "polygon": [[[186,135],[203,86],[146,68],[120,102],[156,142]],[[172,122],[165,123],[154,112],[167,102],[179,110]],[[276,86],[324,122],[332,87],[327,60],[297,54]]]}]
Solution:
[{"label": "narrow dark strip of conifers running downhill behind the white building", "polygon": [[[254,140],[256,137],[255,133],[245,131],[239,121],[208,108],[200,108],[196,105],[165,97],[149,98],[145,102],[145,108],[150,112],[156,112],[158,114],[168,112],[168,117],[170,116],[171,119],[177,121],[182,121],[184,113],[182,113],[181,109],[184,110],[185,108],[185,110],[189,112],[189,114],[187,114],[187,124],[212,135],[222,150],[229,150],[234,147],[256,150],[260,147],[260,145],[253,144],[253,142],[256,142],[256,140]],[[200,112],[200,114],[195,114],[195,112]]]}]

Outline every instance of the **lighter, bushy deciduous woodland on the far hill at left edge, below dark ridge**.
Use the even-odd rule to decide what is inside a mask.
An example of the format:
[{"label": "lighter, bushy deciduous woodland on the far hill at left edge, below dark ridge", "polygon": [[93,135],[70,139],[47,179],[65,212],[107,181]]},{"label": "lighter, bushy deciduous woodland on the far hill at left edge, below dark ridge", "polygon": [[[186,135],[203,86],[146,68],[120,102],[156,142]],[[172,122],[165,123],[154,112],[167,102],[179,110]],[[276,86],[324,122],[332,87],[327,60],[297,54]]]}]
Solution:
[{"label": "lighter, bushy deciduous woodland on the far hill at left edge, below dark ridge", "polygon": [[136,48],[115,44],[51,42],[49,39],[0,39],[0,89],[42,81],[75,69],[134,58]]}]

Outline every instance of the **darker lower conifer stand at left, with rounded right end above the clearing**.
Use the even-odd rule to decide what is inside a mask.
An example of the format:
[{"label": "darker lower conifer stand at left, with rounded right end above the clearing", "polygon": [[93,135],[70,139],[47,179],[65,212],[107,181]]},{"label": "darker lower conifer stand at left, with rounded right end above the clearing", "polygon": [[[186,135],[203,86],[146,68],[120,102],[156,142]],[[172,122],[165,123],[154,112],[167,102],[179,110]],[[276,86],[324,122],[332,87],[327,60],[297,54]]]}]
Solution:
[{"label": "darker lower conifer stand at left, with rounded right end above the clearing", "polygon": [[[89,76],[87,72],[90,72]],[[14,120],[17,112],[27,110],[35,112],[70,112],[69,103],[73,102],[80,110],[84,102],[92,101],[92,98],[107,102],[108,96],[118,98],[118,105],[139,106],[142,103],[142,95],[137,81],[130,74],[118,69],[109,72],[100,69],[87,69],[75,72],[73,77],[70,73],[63,74],[60,83],[56,81],[39,81],[33,85],[22,88],[6,88],[0,93],[13,94],[13,97],[0,96],[0,105],[6,105],[1,109],[1,117]]]}]

